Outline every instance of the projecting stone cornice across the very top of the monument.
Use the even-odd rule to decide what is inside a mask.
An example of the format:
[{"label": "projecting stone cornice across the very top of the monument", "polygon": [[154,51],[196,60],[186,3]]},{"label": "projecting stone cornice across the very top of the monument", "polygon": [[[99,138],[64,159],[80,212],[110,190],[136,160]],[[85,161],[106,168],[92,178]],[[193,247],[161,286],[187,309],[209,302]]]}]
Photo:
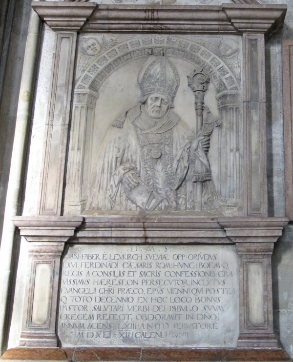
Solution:
[{"label": "projecting stone cornice across the very top of the monument", "polygon": [[279,29],[287,5],[238,3],[221,6],[97,5],[39,2],[32,6],[53,30],[241,34]]}]

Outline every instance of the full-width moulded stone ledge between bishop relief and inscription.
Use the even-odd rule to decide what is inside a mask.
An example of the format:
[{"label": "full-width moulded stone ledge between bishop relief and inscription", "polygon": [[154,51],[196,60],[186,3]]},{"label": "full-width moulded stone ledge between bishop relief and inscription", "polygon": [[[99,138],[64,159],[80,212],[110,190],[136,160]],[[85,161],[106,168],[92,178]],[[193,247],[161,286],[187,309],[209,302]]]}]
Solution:
[{"label": "full-width moulded stone ledge between bishop relief and inscription", "polygon": [[253,217],[16,216],[13,218],[14,224],[20,229],[21,236],[24,236],[27,241],[74,243],[275,242],[282,235],[282,230],[288,221],[287,218]]}]

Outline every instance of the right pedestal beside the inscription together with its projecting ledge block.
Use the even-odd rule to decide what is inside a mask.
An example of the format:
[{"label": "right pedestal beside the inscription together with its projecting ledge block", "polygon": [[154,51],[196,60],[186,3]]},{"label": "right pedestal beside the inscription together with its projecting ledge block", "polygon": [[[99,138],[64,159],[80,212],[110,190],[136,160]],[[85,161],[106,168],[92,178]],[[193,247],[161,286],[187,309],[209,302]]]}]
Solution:
[{"label": "right pedestal beside the inscription together with its projecting ledge block", "polygon": [[[285,226],[277,218],[221,219],[239,256],[238,347],[276,348],[272,316],[272,251]],[[271,225],[272,227],[270,227]]]}]

